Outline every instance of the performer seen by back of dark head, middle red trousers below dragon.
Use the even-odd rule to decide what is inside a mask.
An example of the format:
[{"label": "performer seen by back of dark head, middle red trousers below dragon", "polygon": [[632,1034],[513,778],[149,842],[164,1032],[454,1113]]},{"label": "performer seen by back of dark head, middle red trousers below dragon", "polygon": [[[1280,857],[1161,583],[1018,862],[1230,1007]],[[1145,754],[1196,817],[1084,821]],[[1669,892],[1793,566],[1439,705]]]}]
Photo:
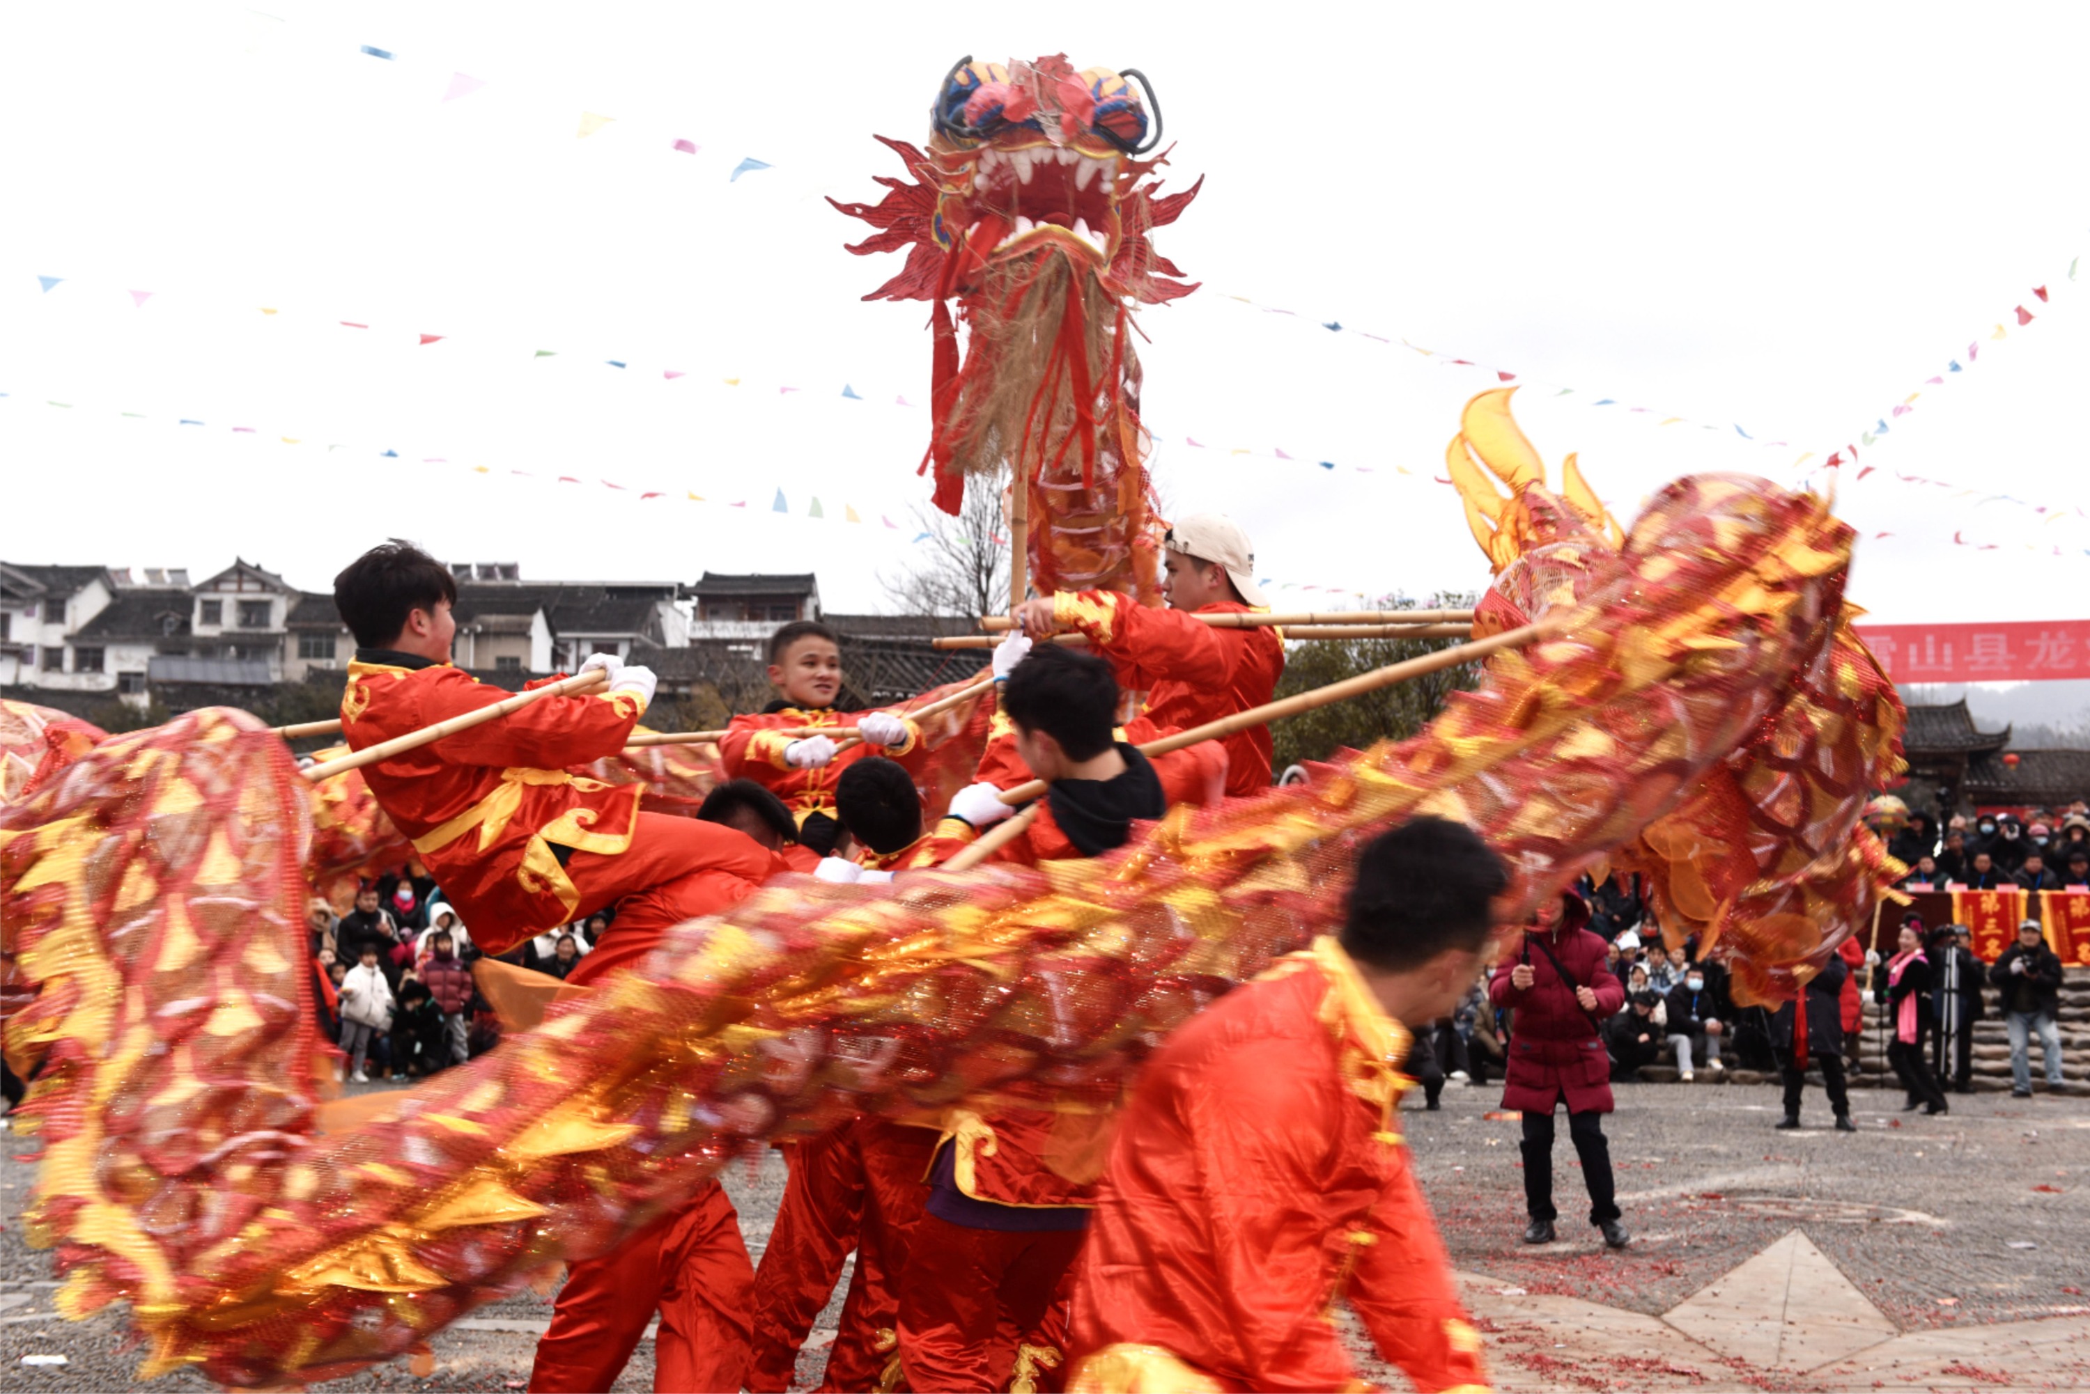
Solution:
[{"label": "performer seen by back of dark head, middle red trousers below dragon", "polygon": [[[844,769],[834,805],[857,851],[853,861],[823,861],[815,872],[823,880],[890,880],[892,872],[936,865],[963,846],[922,832],[922,794],[886,759]],[[888,1118],[855,1118],[786,1147],[790,1179],[754,1271],[750,1390],[782,1394],[790,1384],[798,1348],[834,1294],[849,1250],[857,1252],[857,1267],[819,1388],[882,1388],[899,1325],[899,1279],[928,1200],[924,1175],[934,1147],[934,1122]]]}]

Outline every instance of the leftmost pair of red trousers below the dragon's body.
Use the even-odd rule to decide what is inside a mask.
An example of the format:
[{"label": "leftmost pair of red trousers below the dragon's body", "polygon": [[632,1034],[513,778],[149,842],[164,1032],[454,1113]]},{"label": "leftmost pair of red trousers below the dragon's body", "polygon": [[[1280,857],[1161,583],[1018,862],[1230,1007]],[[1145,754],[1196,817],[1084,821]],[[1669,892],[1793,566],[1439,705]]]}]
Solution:
[{"label": "leftmost pair of red trousers below the dragon's body", "polygon": [[754,1269],[717,1181],[602,1258],[573,1264],[537,1342],[533,1394],[600,1394],[617,1381],[654,1310],[654,1394],[740,1390],[748,1373]]}]

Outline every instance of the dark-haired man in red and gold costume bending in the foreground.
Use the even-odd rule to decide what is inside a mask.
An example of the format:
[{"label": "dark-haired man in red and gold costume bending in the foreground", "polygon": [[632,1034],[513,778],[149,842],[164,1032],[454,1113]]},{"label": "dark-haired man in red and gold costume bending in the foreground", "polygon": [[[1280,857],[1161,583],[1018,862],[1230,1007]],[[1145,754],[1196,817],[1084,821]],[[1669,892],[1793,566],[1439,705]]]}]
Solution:
[{"label": "dark-haired man in red and gold costume bending in the foreground", "polygon": [[1356,1390],[1336,1298],[1417,1390],[1484,1390],[1480,1335],[1400,1141],[1411,1032],[1473,982],[1507,874],[1419,817],[1321,938],[1141,1068],[1074,1269],[1078,1394]]}]

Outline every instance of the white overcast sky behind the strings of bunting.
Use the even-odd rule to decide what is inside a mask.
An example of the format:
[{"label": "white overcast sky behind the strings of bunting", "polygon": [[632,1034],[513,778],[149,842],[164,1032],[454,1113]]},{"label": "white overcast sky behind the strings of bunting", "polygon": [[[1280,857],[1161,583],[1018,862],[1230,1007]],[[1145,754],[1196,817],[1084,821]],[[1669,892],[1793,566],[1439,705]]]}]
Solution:
[{"label": "white overcast sky behind the strings of bunting", "polygon": [[[1143,69],[1170,186],[1206,176],[1158,238],[1204,291],[1141,318],[1154,468],[1275,585],[1484,583],[1434,483],[1494,382],[1467,357],[1519,374],[1538,449],[1622,518],[1685,472],[1797,483],[1923,391],[1843,470],[1854,598],[2082,617],[2090,8],[930,15],[15,0],[0,558],[324,587],[408,535],[539,579],[815,571],[880,608],[928,495],[926,309],[857,299],[899,257],[846,255],[863,226],[821,196],[901,173],[872,134],[924,140],[959,54],[1064,50]],[[483,86],[443,100],[456,73]]]}]

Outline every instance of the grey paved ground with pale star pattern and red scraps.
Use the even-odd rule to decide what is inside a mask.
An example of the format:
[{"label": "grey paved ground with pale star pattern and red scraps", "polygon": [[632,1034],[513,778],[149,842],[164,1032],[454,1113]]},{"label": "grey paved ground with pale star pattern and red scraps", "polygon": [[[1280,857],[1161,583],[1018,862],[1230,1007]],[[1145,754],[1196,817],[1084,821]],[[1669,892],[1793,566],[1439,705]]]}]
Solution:
[{"label": "grey paved ground with pale star pattern and red scraps", "polygon": [[[1559,1244],[1530,1250],[1517,1244],[1519,1131],[1486,1118],[1496,1091],[1450,1089],[1442,1112],[1404,1118],[1499,1388],[2090,1390],[2090,1099],[1956,1097],[1950,1116],[1925,1118],[1887,1112],[1898,1093],[1858,1091],[1862,1131],[1841,1135],[1774,1133],[1768,1085],[1618,1093],[1607,1133],[1634,1231],[1624,1252],[1574,1223],[1565,1129],[1555,1170],[1570,1223]],[[1829,1122],[1818,1095],[1808,1106],[1808,1122]],[[782,1175],[769,1156],[725,1177],[757,1254]],[[48,1256],[15,1225],[29,1181],[27,1164],[0,1160],[0,1388],[134,1388],[119,1319],[50,1315]],[[318,1388],[520,1388],[548,1315],[539,1296],[483,1308],[437,1338],[426,1381],[391,1365]],[[819,1325],[832,1319],[830,1306]],[[815,1344],[798,1367],[807,1386],[823,1335]],[[67,1365],[27,1367],[29,1354]],[[173,1375],[157,1388],[207,1384]],[[652,1388],[650,1344],[617,1388]]]}]

